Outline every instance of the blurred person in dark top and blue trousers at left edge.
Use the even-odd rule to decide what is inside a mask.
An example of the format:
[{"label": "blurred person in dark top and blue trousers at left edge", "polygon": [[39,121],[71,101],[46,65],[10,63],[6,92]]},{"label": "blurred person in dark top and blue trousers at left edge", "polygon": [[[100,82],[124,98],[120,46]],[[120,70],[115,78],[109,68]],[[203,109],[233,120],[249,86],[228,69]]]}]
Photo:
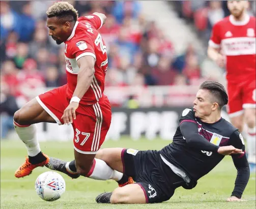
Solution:
[{"label": "blurred person in dark top and blue trousers at left edge", "polygon": [[1,114],[1,139],[7,138],[9,130],[14,129],[13,116],[18,110],[15,97],[10,94],[10,88],[1,77],[0,87],[0,114]]}]

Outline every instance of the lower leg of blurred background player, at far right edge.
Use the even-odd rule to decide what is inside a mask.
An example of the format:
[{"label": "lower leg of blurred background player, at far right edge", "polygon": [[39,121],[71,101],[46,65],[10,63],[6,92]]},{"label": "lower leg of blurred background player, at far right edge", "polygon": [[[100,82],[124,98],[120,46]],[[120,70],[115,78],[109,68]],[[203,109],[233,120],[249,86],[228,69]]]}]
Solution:
[{"label": "lower leg of blurred background player, at far right edge", "polygon": [[248,150],[248,162],[251,171],[255,170],[256,161],[256,127],[255,127],[255,109],[247,108],[244,110],[245,123],[248,126],[247,129],[247,150]]}]

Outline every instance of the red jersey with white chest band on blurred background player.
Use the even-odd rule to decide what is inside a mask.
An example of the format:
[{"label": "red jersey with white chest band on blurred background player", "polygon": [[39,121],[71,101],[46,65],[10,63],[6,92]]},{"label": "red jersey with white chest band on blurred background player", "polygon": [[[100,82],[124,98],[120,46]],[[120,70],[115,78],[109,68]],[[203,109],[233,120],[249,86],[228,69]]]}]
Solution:
[{"label": "red jersey with white chest band on blurred background player", "polygon": [[246,16],[236,21],[233,15],[213,26],[209,46],[221,48],[226,55],[226,79],[229,82],[255,79],[255,17]]}]

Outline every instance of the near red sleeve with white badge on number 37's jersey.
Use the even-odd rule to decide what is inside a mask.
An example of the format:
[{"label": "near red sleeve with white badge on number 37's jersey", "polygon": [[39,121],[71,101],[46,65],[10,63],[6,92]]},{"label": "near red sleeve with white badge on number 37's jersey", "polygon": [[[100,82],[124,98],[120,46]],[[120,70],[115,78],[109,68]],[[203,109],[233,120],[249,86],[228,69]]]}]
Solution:
[{"label": "near red sleeve with white badge on number 37's jersey", "polygon": [[72,54],[76,61],[83,56],[92,56],[96,60],[93,41],[84,36],[72,40],[69,54]]}]

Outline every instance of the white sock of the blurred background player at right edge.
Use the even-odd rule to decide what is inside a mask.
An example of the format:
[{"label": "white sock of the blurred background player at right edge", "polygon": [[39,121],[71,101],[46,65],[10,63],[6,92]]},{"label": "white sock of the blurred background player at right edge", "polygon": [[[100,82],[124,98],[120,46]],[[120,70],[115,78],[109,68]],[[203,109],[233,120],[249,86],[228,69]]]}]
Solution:
[{"label": "white sock of the blurred background player at right edge", "polygon": [[256,141],[256,127],[247,129],[247,151],[248,151],[248,161],[255,163],[255,141]]}]

